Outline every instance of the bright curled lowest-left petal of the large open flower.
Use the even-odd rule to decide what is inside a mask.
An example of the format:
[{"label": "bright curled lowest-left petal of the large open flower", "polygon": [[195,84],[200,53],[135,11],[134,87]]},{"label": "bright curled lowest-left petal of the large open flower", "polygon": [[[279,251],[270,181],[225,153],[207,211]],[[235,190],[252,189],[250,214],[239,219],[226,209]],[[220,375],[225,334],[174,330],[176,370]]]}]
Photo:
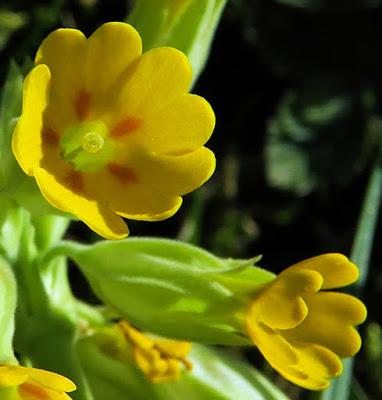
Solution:
[{"label": "bright curled lowest-left petal of the large open flower", "polygon": [[128,229],[122,218],[103,202],[77,194],[61,184],[53,173],[37,168],[37,184],[46,200],[59,210],[76,215],[106,239],[122,239]]}]

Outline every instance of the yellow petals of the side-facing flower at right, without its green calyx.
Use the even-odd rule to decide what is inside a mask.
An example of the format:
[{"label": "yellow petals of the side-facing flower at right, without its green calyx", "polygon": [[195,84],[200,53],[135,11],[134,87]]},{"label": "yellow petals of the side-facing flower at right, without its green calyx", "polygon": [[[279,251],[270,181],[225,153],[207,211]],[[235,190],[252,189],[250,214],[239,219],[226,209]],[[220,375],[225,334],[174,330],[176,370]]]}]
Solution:
[{"label": "yellow petals of the side-facing flower at right, without its green calyx", "polygon": [[256,295],[246,315],[248,334],[286,379],[322,390],[341,374],[340,358],[358,352],[361,339],[353,326],[366,318],[365,306],[351,295],[326,291],[357,278],[357,267],[345,256],[324,254],[287,268]]}]

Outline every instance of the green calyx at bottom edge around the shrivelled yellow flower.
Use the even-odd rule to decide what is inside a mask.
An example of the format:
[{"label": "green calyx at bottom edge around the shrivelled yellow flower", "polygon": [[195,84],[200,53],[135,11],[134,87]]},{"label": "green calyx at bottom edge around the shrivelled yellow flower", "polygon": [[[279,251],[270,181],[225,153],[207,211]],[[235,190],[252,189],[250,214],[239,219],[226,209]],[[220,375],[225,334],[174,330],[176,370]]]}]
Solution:
[{"label": "green calyx at bottom edge around the shrivelled yellow flower", "polygon": [[[96,335],[97,336],[97,335]],[[187,357],[193,365],[178,381],[150,383],[133,361],[110,352],[113,347],[96,336],[77,344],[94,400],[287,400],[261,373],[223,351],[193,344]],[[106,340],[106,339],[105,339]],[[113,340],[112,336],[109,338]],[[115,349],[123,347],[115,337]]]}]

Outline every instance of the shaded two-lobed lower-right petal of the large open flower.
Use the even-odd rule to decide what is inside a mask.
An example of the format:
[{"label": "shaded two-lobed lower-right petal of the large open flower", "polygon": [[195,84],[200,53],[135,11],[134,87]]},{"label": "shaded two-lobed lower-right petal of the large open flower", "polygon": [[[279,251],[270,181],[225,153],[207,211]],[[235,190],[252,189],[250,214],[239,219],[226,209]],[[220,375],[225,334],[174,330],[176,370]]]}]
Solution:
[{"label": "shaded two-lobed lower-right petal of the large open flower", "polygon": [[116,213],[145,221],[172,216],[182,203],[179,196],[201,186],[215,168],[213,153],[204,147],[182,156],[136,152],[127,160],[131,181],[105,169],[88,182]]}]

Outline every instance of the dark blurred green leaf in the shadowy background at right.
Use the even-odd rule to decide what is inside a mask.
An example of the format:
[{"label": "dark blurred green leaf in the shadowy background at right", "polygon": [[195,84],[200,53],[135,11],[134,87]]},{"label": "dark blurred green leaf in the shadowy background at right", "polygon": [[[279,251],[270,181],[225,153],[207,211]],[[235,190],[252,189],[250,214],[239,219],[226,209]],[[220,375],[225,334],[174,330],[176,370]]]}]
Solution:
[{"label": "dark blurred green leaf in the shadowy background at right", "polygon": [[269,183],[298,195],[346,186],[363,170],[377,143],[373,104],[367,90],[331,80],[309,81],[288,91],[268,127]]}]

